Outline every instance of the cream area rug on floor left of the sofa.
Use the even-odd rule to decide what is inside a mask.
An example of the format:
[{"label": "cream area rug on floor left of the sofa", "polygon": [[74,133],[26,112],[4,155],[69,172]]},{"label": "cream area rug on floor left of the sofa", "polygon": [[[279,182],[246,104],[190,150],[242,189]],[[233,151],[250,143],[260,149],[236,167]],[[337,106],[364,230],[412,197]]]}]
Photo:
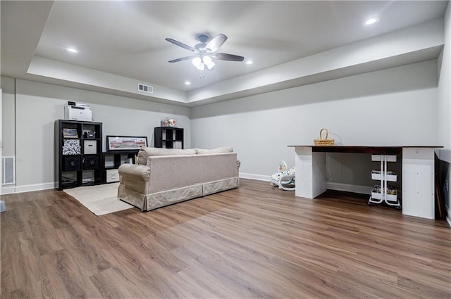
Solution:
[{"label": "cream area rug on floor left of the sofa", "polygon": [[85,205],[95,215],[100,216],[133,208],[132,205],[118,199],[118,186],[119,183],[82,186],[66,189],[64,192]]}]

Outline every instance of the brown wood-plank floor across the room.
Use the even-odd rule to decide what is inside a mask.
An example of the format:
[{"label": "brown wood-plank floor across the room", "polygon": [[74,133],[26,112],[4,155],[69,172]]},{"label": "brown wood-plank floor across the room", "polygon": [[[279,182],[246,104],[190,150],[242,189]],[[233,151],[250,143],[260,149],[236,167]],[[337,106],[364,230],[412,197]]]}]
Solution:
[{"label": "brown wood-plank floor across the room", "polygon": [[2,196],[1,298],[451,298],[447,222],[267,182],[97,217],[63,191]]}]

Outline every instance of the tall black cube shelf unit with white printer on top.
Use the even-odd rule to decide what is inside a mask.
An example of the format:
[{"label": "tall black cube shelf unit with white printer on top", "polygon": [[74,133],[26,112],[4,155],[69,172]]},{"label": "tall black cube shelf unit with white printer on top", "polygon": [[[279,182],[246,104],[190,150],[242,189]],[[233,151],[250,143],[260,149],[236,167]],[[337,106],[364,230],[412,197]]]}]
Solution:
[{"label": "tall black cube shelf unit with white printer on top", "polygon": [[102,184],[101,137],[101,122],[55,121],[56,189]]}]

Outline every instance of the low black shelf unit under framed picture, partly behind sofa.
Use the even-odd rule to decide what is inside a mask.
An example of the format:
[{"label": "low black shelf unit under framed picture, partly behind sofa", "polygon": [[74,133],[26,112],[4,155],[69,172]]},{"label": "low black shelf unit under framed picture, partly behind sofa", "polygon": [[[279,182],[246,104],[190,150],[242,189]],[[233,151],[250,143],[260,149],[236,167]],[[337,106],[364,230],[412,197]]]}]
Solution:
[{"label": "low black shelf unit under framed picture, partly behind sofa", "polygon": [[[103,177],[105,183],[118,182],[117,170],[124,163],[135,164],[138,151],[106,151],[102,153],[104,165]],[[115,179],[117,178],[117,179]]]}]

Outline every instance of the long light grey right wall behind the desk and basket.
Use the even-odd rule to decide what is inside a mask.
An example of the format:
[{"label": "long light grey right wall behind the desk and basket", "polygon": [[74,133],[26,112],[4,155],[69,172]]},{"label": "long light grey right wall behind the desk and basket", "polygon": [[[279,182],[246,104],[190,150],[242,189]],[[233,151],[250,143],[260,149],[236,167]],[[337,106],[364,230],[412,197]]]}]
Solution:
[{"label": "long light grey right wall behind the desk and basket", "polygon": [[199,106],[192,146],[233,146],[240,174],[268,179],[279,160],[294,165],[287,146],[313,144],[323,127],[337,144],[437,144],[436,87],[434,60]]}]

